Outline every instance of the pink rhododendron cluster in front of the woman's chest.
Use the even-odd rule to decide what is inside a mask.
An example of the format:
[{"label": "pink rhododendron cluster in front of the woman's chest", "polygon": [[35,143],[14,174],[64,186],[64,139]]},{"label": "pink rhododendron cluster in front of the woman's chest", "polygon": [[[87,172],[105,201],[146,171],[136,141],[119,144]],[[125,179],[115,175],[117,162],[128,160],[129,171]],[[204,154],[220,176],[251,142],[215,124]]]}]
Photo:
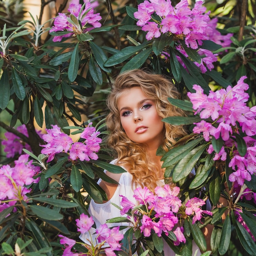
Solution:
[{"label": "pink rhododendron cluster in front of the woman's chest", "polygon": [[[174,245],[179,245],[181,242],[186,242],[183,234],[183,227],[178,227],[176,224],[180,223],[179,218],[182,216],[188,218],[193,216],[193,223],[200,220],[203,214],[212,215],[211,211],[203,211],[202,205],[204,200],[199,198],[190,199],[185,207],[182,206],[181,200],[178,198],[180,188],[165,186],[157,186],[155,193],[151,192],[147,187],[137,188],[134,191],[133,197],[138,201],[141,207],[135,207],[126,197],[121,199],[121,214],[127,214],[127,218],[136,225],[140,222],[139,229],[145,237],[152,234],[152,231],[157,236],[162,236],[162,232],[168,236],[169,231],[173,231],[177,240]],[[146,206],[146,210],[145,207]],[[185,211],[184,211],[185,209]]]}]

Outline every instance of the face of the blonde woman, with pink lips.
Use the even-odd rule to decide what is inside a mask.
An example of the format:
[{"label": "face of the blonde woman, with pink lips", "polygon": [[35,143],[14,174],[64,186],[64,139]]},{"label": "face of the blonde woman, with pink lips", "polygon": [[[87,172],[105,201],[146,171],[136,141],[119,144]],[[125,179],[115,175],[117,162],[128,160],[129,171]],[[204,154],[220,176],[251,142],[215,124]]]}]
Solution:
[{"label": "face of the blonde woman, with pink lips", "polygon": [[130,140],[158,148],[162,144],[164,123],[155,102],[139,87],[125,89],[117,101],[121,125]]}]

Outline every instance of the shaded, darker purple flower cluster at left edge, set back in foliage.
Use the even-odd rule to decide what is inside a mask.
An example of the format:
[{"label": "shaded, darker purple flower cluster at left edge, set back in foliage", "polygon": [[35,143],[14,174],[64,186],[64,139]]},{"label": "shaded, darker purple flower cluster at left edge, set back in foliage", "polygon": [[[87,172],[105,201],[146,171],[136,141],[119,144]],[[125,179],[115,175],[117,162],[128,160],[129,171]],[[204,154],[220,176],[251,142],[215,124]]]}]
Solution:
[{"label": "shaded, darker purple flower cluster at left edge, set back in foliage", "polygon": [[[16,130],[25,135],[26,137],[29,137],[25,124],[18,126]],[[36,132],[40,137],[42,137],[41,132]],[[12,132],[5,132],[4,136],[6,137],[6,139],[3,139],[2,145],[4,146],[4,152],[6,152],[6,157],[14,157],[16,154],[21,155],[23,148],[31,151],[29,144],[22,141],[20,137],[13,134]]]}]

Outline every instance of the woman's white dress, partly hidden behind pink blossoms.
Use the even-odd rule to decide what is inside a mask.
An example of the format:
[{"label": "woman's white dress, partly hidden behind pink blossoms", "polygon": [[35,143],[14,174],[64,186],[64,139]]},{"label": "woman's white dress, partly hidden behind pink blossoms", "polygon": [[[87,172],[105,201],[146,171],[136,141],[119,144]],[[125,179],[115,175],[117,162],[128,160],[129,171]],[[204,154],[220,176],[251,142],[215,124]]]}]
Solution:
[{"label": "woman's white dress, partly hidden behind pink blossoms", "polygon": [[[110,162],[110,164],[115,164],[115,161],[116,160],[113,160],[112,162]],[[98,181],[98,184],[100,182],[101,182],[101,179]],[[164,180],[161,183],[162,184],[159,184],[159,186],[164,185]],[[106,223],[106,220],[108,220],[108,219],[122,216],[119,209],[117,209],[117,207],[115,207],[113,205],[113,204],[116,204],[119,207],[121,207],[120,202],[121,202],[122,198],[119,195],[124,195],[124,196],[126,196],[126,198],[128,198],[128,200],[133,202],[135,205],[137,204],[135,198],[133,197],[133,194],[134,194],[133,190],[135,188],[132,188],[131,184],[132,184],[132,175],[128,172],[122,173],[121,177],[119,179],[119,185],[117,186],[117,189],[110,200],[108,200],[107,202],[102,203],[102,204],[97,204],[96,202],[94,202],[93,199],[91,200],[88,211],[90,213],[90,216],[92,216],[92,218],[96,224],[96,227],[99,227],[100,225]],[[115,227],[117,225],[127,226],[128,222],[107,223],[107,224],[108,224],[108,227]],[[92,228],[90,230],[91,235],[94,232],[95,232],[95,229]],[[124,234],[126,232],[126,229],[123,229],[120,232],[122,232]],[[79,236],[79,238],[83,242],[88,243],[86,240],[89,239],[90,236],[88,235],[88,233],[85,233],[85,234],[81,234]],[[192,243],[193,243],[192,256],[200,256],[201,252],[200,252],[199,247],[195,244],[194,241],[192,241]],[[195,255],[195,251],[197,249],[198,249],[198,252]],[[137,255],[137,254],[133,254],[133,255]],[[164,255],[165,256],[175,256],[175,252],[173,252],[173,250],[168,246],[168,244],[166,243],[165,240],[164,240]]]}]

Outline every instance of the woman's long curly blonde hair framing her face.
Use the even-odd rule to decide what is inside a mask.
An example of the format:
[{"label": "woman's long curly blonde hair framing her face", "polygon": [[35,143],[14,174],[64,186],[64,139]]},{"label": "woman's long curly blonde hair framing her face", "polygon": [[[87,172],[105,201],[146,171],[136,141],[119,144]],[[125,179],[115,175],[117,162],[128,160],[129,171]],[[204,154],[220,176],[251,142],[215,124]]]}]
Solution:
[{"label": "woman's long curly blonde hair framing her face", "polygon": [[[157,180],[162,174],[147,156],[143,145],[131,141],[121,126],[120,113],[117,107],[118,99],[124,89],[139,87],[144,94],[155,102],[160,117],[184,116],[183,110],[171,105],[168,97],[179,99],[180,94],[169,80],[159,74],[149,74],[143,70],[130,70],[119,74],[112,85],[112,91],[107,99],[110,110],[106,124],[110,131],[108,145],[114,149],[117,163],[124,166],[132,174],[132,182],[141,187],[147,186],[150,190],[157,186]],[[173,126],[164,123],[162,134],[162,148],[166,152],[176,140],[184,137],[186,131],[184,126]]]}]

